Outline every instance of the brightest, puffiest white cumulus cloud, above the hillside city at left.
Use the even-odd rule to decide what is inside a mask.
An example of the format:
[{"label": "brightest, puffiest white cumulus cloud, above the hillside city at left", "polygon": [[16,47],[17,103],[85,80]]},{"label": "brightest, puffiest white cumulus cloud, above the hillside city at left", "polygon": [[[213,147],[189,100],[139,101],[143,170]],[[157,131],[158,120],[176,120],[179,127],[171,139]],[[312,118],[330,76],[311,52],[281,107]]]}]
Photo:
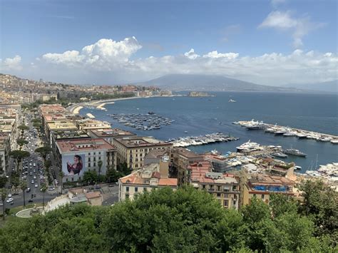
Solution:
[{"label": "brightest, puffiest white cumulus cloud, above the hillside city at left", "polygon": [[125,38],[123,41],[102,38],[92,45],[83,47],[81,52],[73,50],[64,53],[46,53],[42,58],[48,63],[69,67],[87,66],[110,70],[113,66],[128,63],[128,58],[140,48],[142,46],[135,37]]}]

